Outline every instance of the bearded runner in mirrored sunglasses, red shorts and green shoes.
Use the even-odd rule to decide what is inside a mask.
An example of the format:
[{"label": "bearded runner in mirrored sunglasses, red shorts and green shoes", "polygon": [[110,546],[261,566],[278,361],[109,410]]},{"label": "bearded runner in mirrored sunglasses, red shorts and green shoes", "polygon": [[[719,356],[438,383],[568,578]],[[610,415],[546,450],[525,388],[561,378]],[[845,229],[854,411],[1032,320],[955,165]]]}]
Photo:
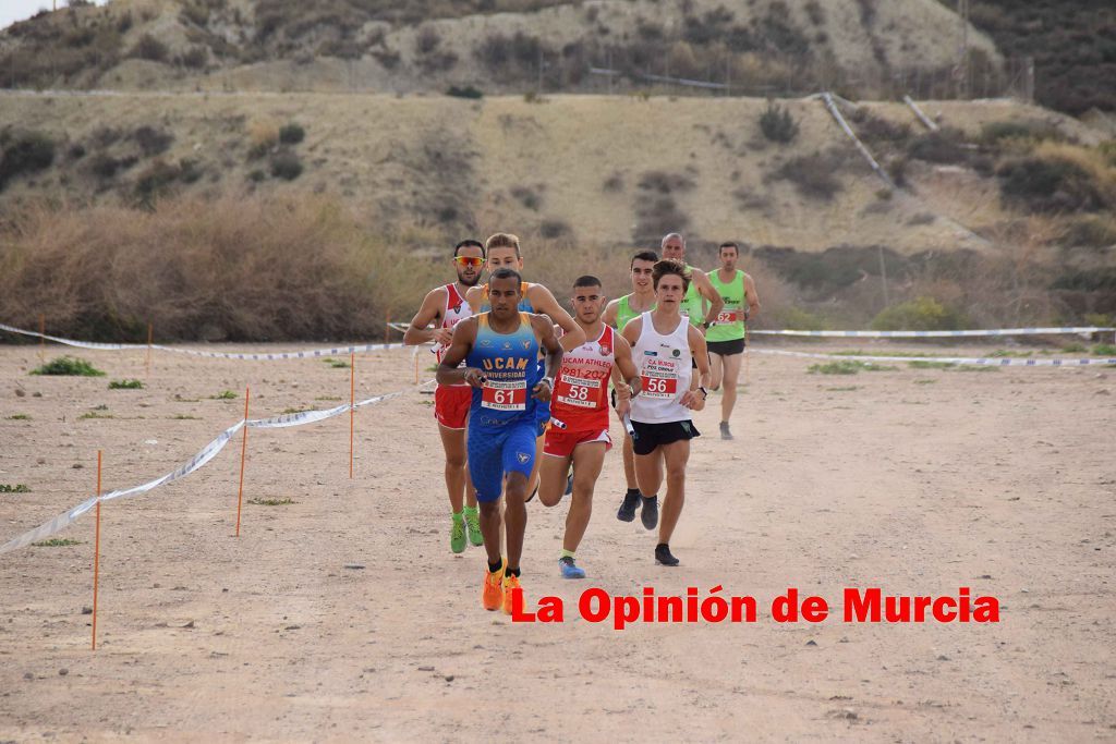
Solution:
[{"label": "bearded runner in mirrored sunglasses, red shorts and green shoes", "polygon": [[[465,302],[465,292],[475,287],[484,267],[484,247],[480,241],[463,240],[453,247],[453,262],[458,281],[432,289],[423,299],[419,312],[411,319],[411,326],[403,335],[403,342],[410,345],[434,341],[437,360],[450,346],[453,327],[471,316],[472,309]],[[426,326],[434,323],[434,328]],[[477,491],[469,482],[465,468],[465,419],[472,389],[465,384],[439,385],[434,390],[434,418],[442,437],[445,452],[445,487],[450,493],[450,550],[455,553],[465,549],[465,533],[469,542],[480,545],[480,513],[477,510]],[[462,509],[462,495],[464,508]]]}]

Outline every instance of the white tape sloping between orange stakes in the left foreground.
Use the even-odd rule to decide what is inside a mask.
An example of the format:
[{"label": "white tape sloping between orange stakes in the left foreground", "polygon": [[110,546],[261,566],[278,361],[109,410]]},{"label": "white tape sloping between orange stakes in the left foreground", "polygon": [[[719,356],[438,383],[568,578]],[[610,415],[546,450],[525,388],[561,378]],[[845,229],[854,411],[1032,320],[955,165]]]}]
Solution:
[{"label": "white tape sloping between orange stakes in the left foreground", "polygon": [[[427,380],[426,383],[423,383],[419,387],[420,388],[426,387],[433,380]],[[382,400],[387,400],[388,398],[401,396],[403,395],[403,393],[404,390],[400,390],[396,393],[377,395],[374,398],[358,400],[357,403],[353,404],[353,407],[359,408],[362,406],[368,406],[374,403],[381,403]],[[248,419],[248,422],[239,421],[229,428],[224,429],[215,439],[206,444],[198,454],[191,457],[189,462],[182,464],[176,470],[167,473],[166,475],[163,475],[162,477],[157,477],[154,481],[148,481],[147,483],[144,483],[142,485],[132,486],[131,489],[109,491],[108,493],[102,494],[99,497],[90,496],[89,499],[86,499],[80,504],[74,506],[69,511],[59,514],[58,516],[55,516],[50,521],[40,524],[33,530],[29,530],[28,532],[25,532],[18,538],[13,538],[8,542],[3,543],[2,545],[0,545],[0,554],[7,553],[12,550],[18,550],[19,548],[26,548],[32,542],[38,542],[44,538],[48,538],[55,534],[56,532],[65,530],[70,524],[80,519],[83,514],[85,514],[90,509],[96,506],[98,501],[112,501],[114,499],[122,499],[124,496],[134,496],[140,493],[146,493],[147,491],[157,489],[161,485],[166,485],[167,483],[177,481],[180,479],[185,477],[186,475],[190,475],[191,473],[201,468],[203,465],[213,460],[213,457],[215,457],[217,454],[224,448],[224,445],[229,443],[229,439],[231,439],[237,434],[237,432],[239,432],[244,426],[246,423],[248,424],[249,428],[282,428],[287,426],[300,426],[302,424],[312,424],[316,422],[325,421],[327,418],[333,418],[334,416],[338,416],[347,412],[348,409],[349,409],[349,404],[345,404],[326,410],[302,410],[297,414],[283,414],[281,416],[275,416],[272,418],[250,418]]]}]

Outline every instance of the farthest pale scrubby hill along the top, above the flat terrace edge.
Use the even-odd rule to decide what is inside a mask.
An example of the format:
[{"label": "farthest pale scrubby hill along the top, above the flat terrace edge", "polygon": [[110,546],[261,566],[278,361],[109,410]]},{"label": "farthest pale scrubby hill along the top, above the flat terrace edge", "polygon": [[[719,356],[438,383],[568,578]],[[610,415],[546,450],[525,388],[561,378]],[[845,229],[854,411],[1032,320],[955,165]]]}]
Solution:
[{"label": "farthest pale scrubby hill along the top, above the flat terrace edge", "polygon": [[[1000,64],[991,40],[969,36]],[[751,95],[941,96],[960,38],[936,0],[114,0],[13,25],[0,76],[21,88],[489,94],[665,76]]]}]

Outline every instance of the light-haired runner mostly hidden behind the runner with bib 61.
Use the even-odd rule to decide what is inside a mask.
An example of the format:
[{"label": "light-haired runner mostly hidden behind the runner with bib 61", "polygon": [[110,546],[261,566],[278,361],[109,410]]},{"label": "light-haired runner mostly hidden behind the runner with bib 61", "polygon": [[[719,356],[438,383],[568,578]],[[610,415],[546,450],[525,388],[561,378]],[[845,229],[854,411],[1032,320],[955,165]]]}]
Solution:
[{"label": "light-haired runner mostly hidden behind the runner with bib 61", "polygon": [[[499,269],[512,269],[517,272],[523,270],[523,255],[520,250],[519,238],[511,233],[498,232],[491,235],[484,241],[484,251],[490,277]],[[488,293],[488,284],[473,287],[466,292],[465,297],[473,312],[483,312],[489,308]],[[580,326],[574,322],[574,318],[558,305],[558,300],[555,299],[554,293],[549,289],[542,284],[532,284],[525,281],[522,282],[520,294],[519,309],[522,312],[545,315],[556,326],[561,328],[562,337],[560,342],[562,349],[569,351],[585,342],[585,334],[581,331]],[[542,361],[540,360],[539,364],[541,365]],[[527,496],[528,501],[535,497],[539,487],[538,466],[542,460],[542,434],[546,431],[547,422],[550,421],[549,403],[537,406],[536,413],[538,414],[538,421],[536,422],[535,470],[531,472],[530,487],[527,490],[529,494]]]}]

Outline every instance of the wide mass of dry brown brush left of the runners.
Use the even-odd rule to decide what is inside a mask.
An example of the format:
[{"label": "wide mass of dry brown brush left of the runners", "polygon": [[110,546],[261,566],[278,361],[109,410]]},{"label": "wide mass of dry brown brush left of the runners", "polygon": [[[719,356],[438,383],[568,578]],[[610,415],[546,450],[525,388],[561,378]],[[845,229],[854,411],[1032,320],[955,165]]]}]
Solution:
[{"label": "wide mass of dry brown brush left of the runners", "polygon": [[444,279],[324,197],[30,209],[0,235],[0,317],[137,340],[379,337]]}]

